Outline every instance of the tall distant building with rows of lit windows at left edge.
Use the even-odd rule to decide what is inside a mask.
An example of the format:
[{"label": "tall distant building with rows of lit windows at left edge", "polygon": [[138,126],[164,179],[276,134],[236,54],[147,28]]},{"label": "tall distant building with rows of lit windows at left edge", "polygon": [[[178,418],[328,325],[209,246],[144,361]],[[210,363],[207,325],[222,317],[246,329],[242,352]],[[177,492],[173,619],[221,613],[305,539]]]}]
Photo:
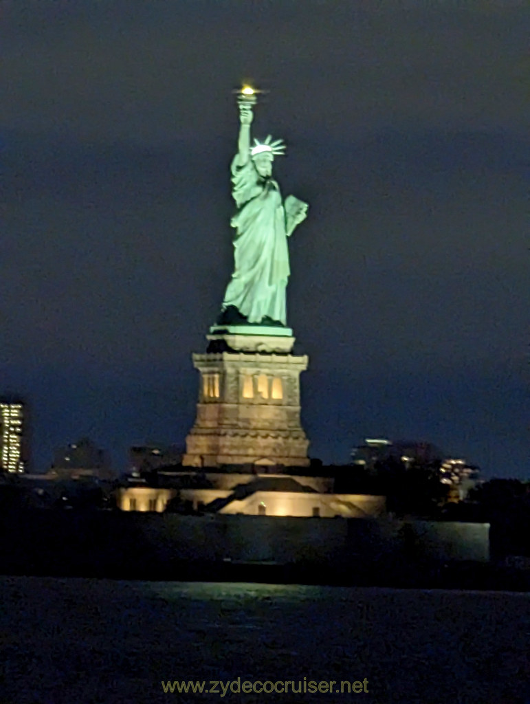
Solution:
[{"label": "tall distant building with rows of lit windows at left edge", "polygon": [[27,405],[20,398],[0,398],[0,466],[9,474],[27,471]]}]

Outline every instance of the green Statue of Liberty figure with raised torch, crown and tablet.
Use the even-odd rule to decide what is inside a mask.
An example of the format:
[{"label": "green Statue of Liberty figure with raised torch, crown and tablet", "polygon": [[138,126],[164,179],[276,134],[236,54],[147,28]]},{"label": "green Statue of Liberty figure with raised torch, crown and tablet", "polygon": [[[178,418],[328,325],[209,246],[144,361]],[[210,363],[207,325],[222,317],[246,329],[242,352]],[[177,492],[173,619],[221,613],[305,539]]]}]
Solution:
[{"label": "green Statue of Liberty figure with raised torch, crown and tablet", "polygon": [[272,162],[284,152],[278,139],[254,140],[251,123],[255,92],[239,93],[239,142],[232,161],[234,273],[227,286],[218,325],[286,326],[289,278],[287,237],[307,215],[308,205],[294,196],[282,201]]}]

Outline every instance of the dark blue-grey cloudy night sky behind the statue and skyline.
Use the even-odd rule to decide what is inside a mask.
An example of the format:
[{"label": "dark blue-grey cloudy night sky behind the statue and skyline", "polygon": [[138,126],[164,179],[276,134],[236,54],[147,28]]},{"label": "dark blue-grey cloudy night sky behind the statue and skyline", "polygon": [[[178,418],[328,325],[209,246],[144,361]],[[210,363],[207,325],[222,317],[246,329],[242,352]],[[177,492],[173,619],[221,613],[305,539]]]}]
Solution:
[{"label": "dark blue-grey cloudy night sky behind the statue and skyline", "polygon": [[84,435],[118,468],[184,441],[251,79],[310,203],[310,455],[382,434],[528,477],[529,27],[512,0],[0,0],[0,391],[37,469]]}]

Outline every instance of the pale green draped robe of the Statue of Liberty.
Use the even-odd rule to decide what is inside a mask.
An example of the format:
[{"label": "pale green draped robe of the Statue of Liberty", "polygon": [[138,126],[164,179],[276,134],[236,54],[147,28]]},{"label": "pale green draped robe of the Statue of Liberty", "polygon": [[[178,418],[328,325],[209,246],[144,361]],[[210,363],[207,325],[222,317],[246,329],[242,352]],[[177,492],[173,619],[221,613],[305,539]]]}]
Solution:
[{"label": "pale green draped robe of the Statue of Liberty", "polygon": [[251,159],[239,166],[234,158],[231,170],[235,267],[222,308],[234,306],[251,323],[270,318],[286,325],[290,270],[282,194],[275,180],[258,174]]}]

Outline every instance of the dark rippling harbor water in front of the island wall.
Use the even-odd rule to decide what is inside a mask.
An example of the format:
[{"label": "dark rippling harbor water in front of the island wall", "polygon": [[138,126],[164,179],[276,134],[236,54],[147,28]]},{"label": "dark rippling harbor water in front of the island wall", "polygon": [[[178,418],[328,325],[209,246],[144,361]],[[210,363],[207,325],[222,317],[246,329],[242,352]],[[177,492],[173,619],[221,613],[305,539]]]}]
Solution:
[{"label": "dark rippling harbor water in front of the island wall", "polygon": [[[530,702],[527,594],[1,577],[0,602],[2,704]],[[238,677],[368,691],[161,684]]]}]

